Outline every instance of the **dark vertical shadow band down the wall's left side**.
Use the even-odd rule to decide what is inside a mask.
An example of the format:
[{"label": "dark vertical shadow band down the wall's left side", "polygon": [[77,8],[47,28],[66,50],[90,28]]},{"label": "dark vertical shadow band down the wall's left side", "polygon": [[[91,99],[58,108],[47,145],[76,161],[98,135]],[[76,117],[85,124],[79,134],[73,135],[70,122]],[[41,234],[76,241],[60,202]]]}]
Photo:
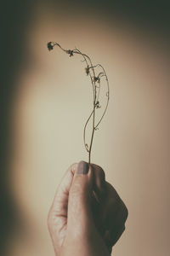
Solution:
[{"label": "dark vertical shadow band down the wall's left side", "polygon": [[1,132],[0,132],[0,255],[5,255],[8,239],[17,226],[17,211],[8,184],[10,166],[10,112],[13,104],[15,75],[20,66],[25,44],[31,1],[4,1],[1,4]]}]

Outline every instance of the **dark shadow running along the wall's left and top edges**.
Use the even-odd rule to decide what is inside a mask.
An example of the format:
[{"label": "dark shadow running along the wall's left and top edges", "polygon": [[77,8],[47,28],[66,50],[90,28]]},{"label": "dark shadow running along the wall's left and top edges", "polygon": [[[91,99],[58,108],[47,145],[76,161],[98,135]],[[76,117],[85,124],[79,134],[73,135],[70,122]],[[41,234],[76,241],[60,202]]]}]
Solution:
[{"label": "dark shadow running along the wall's left and top edges", "polygon": [[[60,1],[61,2],[61,1]],[[54,8],[65,9],[65,15],[75,10],[85,13],[86,15],[95,15],[101,13],[103,19],[113,21],[118,17],[120,20],[128,20],[133,26],[137,26],[139,30],[147,30],[161,34],[161,37],[167,40],[167,33],[170,24],[169,15],[165,1],[154,3],[147,1],[144,3],[131,3],[133,1],[97,1],[93,3],[87,0],[84,2],[72,1],[37,1],[38,4],[53,5]],[[34,2],[35,3],[35,2]],[[75,3],[75,5],[74,5]],[[88,4],[89,3],[89,4]],[[18,228],[19,215],[14,206],[14,201],[10,193],[8,184],[9,166],[10,166],[10,113],[13,107],[14,93],[17,90],[15,84],[16,73],[20,67],[20,63],[24,57],[26,27],[31,21],[31,11],[34,8],[33,1],[25,0],[4,2],[1,9],[3,10],[2,24],[3,30],[1,38],[3,38],[1,49],[1,73],[3,76],[1,83],[1,133],[0,133],[0,255],[5,255],[5,249],[8,247],[8,239],[12,230]]]}]

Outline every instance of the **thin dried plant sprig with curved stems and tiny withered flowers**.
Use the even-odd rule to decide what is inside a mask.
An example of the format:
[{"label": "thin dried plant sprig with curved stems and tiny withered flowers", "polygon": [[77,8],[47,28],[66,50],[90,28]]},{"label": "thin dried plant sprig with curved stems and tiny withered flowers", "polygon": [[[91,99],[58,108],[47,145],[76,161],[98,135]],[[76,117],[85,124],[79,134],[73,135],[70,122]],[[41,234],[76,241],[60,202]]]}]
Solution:
[{"label": "thin dried plant sprig with curved stems and tiny withered flowers", "polygon": [[[85,67],[85,73],[89,76],[90,80],[91,80],[91,84],[92,84],[92,88],[93,88],[93,95],[94,95],[94,102],[93,102],[93,110],[90,113],[88,120],[86,122],[86,124],[84,125],[84,130],[83,130],[83,143],[84,146],[88,152],[88,163],[90,164],[91,161],[91,151],[92,151],[92,144],[93,144],[93,140],[94,140],[94,131],[99,129],[99,124],[101,122],[101,120],[104,118],[106,109],[108,107],[108,103],[109,103],[109,98],[110,98],[110,90],[109,90],[109,81],[107,78],[107,75],[105,73],[105,69],[104,67],[102,67],[102,65],[97,64],[97,65],[93,65],[90,57],[86,54],[83,54],[79,49],[75,48],[75,49],[63,49],[58,43],[56,42],[49,42],[48,43],[48,50],[52,50],[54,49],[54,46],[58,46],[60,49],[62,49],[63,51],[65,51],[66,54],[71,56],[74,56],[75,54],[77,55],[82,55],[82,62],[85,62],[86,67]],[[98,69],[100,69],[100,72],[96,72],[96,68],[98,67]],[[102,79],[105,79],[106,81],[106,85],[107,85],[107,91],[106,91],[106,104],[105,104],[105,109],[99,119],[99,121],[97,122],[97,124],[95,124],[95,111],[96,108],[101,108],[100,104],[99,104],[99,92],[100,92],[100,87],[101,87],[101,82]],[[86,143],[86,129],[87,129],[87,125],[89,120],[93,118],[93,127],[92,127],[92,135],[91,135],[91,139],[90,139],[90,143],[88,146],[88,143]]]}]

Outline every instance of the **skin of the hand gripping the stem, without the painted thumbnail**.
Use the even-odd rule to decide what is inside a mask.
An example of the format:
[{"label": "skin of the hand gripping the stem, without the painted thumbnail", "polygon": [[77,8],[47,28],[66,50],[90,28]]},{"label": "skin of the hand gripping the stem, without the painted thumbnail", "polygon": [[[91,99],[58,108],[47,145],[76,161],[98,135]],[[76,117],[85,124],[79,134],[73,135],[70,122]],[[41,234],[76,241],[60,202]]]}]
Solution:
[{"label": "skin of the hand gripping the stem, without the painted thumbnail", "polygon": [[55,255],[111,255],[125,230],[127,215],[127,207],[105,181],[100,166],[90,164],[88,173],[78,173],[78,164],[71,165],[48,212]]}]

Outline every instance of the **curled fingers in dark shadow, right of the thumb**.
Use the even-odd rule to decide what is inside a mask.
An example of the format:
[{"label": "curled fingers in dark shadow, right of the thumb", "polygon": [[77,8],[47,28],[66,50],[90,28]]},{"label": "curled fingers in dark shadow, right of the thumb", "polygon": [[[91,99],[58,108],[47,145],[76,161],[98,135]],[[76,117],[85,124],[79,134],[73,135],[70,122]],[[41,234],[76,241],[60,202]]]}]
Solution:
[{"label": "curled fingers in dark shadow, right of the thumb", "polygon": [[104,170],[100,166],[91,165],[94,170],[94,197],[97,201],[93,203],[94,222],[101,235],[105,234],[105,230],[110,231],[111,244],[114,244],[125,230],[127,207],[111,183],[105,181]]}]

